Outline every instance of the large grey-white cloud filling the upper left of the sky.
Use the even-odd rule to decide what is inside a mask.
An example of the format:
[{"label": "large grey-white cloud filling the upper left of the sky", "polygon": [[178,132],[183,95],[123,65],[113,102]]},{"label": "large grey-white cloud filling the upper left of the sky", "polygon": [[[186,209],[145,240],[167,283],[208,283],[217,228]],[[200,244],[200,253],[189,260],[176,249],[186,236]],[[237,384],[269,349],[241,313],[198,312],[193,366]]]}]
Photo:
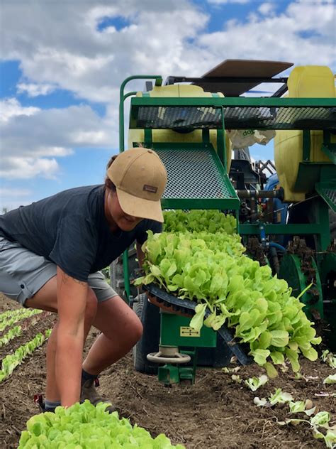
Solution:
[{"label": "large grey-white cloud filling the upper left of the sky", "polygon": [[[208,70],[207,53],[188,43],[203,31],[208,16],[190,1],[144,0],[139,7],[136,0],[113,6],[37,0],[19,7],[6,2],[1,12],[6,33],[0,51],[3,58],[21,60],[27,85],[57,85],[92,101],[116,102],[129,75]],[[99,31],[105,17],[121,17],[129,25]]]}]

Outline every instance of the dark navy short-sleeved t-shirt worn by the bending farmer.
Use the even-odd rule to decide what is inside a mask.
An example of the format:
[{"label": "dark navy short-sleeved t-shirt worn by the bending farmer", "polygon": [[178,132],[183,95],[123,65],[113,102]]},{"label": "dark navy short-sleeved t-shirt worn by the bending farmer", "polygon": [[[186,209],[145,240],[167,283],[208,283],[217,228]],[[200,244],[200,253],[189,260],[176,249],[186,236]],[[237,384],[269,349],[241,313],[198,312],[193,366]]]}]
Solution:
[{"label": "dark navy short-sleeved t-shirt worn by the bending farmer", "polygon": [[79,281],[111,264],[147,230],[162,224],[142,220],[133,231],[113,233],[104,212],[103,185],[65,190],[0,215],[0,235],[54,262]]}]

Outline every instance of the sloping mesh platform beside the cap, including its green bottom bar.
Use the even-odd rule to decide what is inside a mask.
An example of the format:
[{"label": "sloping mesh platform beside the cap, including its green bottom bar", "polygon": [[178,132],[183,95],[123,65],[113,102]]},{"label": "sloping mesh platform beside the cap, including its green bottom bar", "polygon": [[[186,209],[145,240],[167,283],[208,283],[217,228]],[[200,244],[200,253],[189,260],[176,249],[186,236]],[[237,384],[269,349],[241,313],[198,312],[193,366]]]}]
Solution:
[{"label": "sloping mesh platform beside the cap, including its green bottom bar", "polygon": [[224,173],[219,158],[211,148],[199,144],[196,147],[178,148],[173,145],[162,148],[155,144],[155,151],[167,168],[168,183],[162,197],[164,207],[177,205],[192,208],[228,208],[239,206],[239,199]]}]

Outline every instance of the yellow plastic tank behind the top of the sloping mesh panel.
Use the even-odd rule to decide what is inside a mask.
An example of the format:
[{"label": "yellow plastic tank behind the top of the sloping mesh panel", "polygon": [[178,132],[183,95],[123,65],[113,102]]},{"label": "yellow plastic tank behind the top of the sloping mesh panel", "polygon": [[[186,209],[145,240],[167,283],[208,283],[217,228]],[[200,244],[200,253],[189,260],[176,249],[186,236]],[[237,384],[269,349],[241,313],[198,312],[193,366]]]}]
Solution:
[{"label": "yellow plastic tank behind the top of the sloping mesh panel", "polygon": [[[148,92],[150,97],[212,97],[211,92],[204,92],[201,87],[194,85],[168,85],[155,86]],[[223,97],[221,92],[216,94],[218,97]],[[137,97],[142,97],[142,92],[137,93]],[[143,129],[130,129],[128,131],[128,148],[132,148],[135,144],[145,141],[145,131]],[[217,131],[210,130],[210,141],[213,148],[217,151]],[[196,129],[186,134],[179,133],[173,129],[152,129],[152,142],[155,147],[155,142],[164,143],[197,143],[202,142],[202,130]],[[228,135],[225,134],[225,148],[226,148],[226,163],[228,172],[231,165],[231,144]]]}]

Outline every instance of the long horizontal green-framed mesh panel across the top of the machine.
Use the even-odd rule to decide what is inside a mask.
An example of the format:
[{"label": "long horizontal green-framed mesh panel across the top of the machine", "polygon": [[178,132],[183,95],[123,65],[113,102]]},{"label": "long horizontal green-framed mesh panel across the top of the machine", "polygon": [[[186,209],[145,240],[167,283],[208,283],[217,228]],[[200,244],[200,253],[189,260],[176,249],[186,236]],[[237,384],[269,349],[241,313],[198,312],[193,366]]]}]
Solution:
[{"label": "long horizontal green-framed mesh panel across the top of the machine", "polygon": [[[198,103],[198,104],[197,104]],[[130,128],[336,129],[336,99],[132,99]]]}]

